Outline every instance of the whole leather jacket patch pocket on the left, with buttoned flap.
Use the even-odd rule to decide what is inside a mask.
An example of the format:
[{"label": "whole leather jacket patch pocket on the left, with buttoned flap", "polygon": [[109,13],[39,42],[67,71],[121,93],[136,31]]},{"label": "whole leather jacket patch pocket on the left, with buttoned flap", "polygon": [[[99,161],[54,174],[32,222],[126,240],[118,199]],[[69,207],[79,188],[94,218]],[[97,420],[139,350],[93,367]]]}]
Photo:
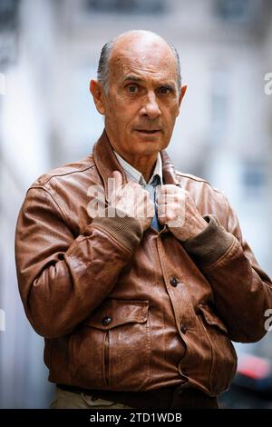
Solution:
[{"label": "whole leather jacket patch pocket on the left, with buttoned flap", "polygon": [[148,301],[108,299],[73,332],[70,373],[88,388],[140,390],[150,380]]}]

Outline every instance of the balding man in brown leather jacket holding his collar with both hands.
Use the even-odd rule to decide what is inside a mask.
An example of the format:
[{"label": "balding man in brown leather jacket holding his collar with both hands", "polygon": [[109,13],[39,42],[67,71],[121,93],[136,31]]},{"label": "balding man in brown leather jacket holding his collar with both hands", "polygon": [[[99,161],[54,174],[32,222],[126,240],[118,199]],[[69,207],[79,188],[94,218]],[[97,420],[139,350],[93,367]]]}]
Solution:
[{"label": "balding man in brown leather jacket holding his collar with both hands", "polygon": [[45,339],[52,407],[216,408],[236,372],[230,340],[266,333],[271,282],[236,214],[165,151],[180,80],[179,55],[159,35],[105,45],[90,84],[102,136],[25,197],[18,282]]}]

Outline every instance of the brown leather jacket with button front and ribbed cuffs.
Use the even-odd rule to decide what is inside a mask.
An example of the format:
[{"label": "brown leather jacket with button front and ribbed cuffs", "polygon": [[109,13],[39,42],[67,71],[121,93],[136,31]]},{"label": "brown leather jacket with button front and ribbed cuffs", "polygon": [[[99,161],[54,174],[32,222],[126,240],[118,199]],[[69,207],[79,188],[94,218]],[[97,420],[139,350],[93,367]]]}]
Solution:
[{"label": "brown leather jacket with button front and ribbed cuffs", "polygon": [[189,191],[209,222],[185,243],[134,218],[90,218],[88,189],[126,176],[105,131],[93,154],[40,177],[19,214],[15,255],[25,313],[45,338],[49,380],[150,391],[190,384],[219,395],[237,358],[230,340],[265,333],[272,287],[224,194],[180,174],[161,152],[164,184]]}]

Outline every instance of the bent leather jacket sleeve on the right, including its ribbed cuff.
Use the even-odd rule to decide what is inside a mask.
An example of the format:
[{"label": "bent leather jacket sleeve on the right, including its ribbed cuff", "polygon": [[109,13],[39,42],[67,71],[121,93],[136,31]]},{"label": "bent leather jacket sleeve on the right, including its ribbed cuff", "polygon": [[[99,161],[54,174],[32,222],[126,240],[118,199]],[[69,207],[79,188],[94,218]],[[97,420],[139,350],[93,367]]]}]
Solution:
[{"label": "bent leather jacket sleeve on the right, including its ribbed cuff", "polygon": [[272,284],[243,239],[237,214],[224,198],[227,227],[217,217],[207,215],[207,228],[184,247],[208,279],[230,339],[256,342],[267,333],[265,313],[272,307]]}]

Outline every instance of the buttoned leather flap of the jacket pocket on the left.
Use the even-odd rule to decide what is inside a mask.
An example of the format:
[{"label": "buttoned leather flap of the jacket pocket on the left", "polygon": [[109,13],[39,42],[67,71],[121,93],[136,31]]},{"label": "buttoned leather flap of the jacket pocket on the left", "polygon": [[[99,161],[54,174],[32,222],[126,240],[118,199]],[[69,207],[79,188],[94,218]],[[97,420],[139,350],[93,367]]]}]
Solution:
[{"label": "buttoned leather flap of the jacket pocket on the left", "polygon": [[109,299],[92,313],[84,325],[107,331],[124,323],[144,323],[148,309],[149,301]]}]

